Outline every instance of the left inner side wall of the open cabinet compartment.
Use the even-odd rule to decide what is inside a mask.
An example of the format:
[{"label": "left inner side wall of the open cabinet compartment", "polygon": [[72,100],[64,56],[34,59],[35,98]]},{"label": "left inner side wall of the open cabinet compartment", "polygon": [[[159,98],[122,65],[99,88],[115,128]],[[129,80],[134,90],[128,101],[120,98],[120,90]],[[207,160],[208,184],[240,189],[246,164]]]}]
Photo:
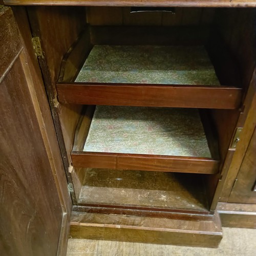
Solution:
[{"label": "left inner side wall of the open cabinet compartment", "polygon": [[[55,82],[58,79],[63,56],[84,29],[84,9],[76,7],[29,7],[28,16],[33,36],[40,38],[43,56],[38,57],[45,82],[53,121],[65,166],[68,182],[72,178],[68,171],[74,133],[82,109],[80,105],[59,104]],[[51,29],[49,29],[49,26]],[[62,38],[60,40],[60,38]],[[54,47],[53,47],[54,46]],[[75,194],[71,193],[73,203]]]}]

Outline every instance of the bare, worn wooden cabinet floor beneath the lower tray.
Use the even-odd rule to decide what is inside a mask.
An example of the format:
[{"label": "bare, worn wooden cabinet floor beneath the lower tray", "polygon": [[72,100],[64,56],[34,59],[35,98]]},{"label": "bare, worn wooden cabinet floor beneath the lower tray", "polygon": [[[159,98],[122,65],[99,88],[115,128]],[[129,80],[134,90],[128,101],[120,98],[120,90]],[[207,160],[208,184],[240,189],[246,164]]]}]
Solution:
[{"label": "bare, worn wooden cabinet floor beneath the lower tray", "polygon": [[202,176],[140,170],[85,170],[78,205],[208,214]]}]

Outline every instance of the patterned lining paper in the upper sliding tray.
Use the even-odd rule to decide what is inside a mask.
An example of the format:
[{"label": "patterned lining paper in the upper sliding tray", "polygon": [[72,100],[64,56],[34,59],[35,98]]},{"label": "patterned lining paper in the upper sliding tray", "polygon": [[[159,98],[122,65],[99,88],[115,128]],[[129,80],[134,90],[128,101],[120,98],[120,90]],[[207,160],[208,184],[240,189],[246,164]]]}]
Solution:
[{"label": "patterned lining paper in the upper sliding tray", "polygon": [[75,81],[220,85],[203,46],[94,46]]}]

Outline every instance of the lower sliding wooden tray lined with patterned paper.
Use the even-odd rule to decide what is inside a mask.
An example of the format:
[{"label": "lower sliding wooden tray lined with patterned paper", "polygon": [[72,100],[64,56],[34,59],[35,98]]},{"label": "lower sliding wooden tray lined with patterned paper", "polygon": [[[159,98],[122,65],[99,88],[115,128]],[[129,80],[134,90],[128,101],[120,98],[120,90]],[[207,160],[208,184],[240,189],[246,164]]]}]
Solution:
[{"label": "lower sliding wooden tray lined with patterned paper", "polygon": [[96,106],[94,112],[89,106],[77,127],[73,166],[218,173],[213,125],[200,112],[131,106]]}]

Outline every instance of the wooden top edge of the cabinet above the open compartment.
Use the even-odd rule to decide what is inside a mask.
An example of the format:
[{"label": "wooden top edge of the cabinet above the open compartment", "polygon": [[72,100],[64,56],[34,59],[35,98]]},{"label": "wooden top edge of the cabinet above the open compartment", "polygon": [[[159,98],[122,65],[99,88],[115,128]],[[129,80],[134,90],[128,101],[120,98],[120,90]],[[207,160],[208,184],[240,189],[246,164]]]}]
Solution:
[{"label": "wooden top edge of the cabinet above the open compartment", "polygon": [[6,5],[71,5],[71,6],[162,6],[162,7],[255,7],[254,0],[3,0]]}]

